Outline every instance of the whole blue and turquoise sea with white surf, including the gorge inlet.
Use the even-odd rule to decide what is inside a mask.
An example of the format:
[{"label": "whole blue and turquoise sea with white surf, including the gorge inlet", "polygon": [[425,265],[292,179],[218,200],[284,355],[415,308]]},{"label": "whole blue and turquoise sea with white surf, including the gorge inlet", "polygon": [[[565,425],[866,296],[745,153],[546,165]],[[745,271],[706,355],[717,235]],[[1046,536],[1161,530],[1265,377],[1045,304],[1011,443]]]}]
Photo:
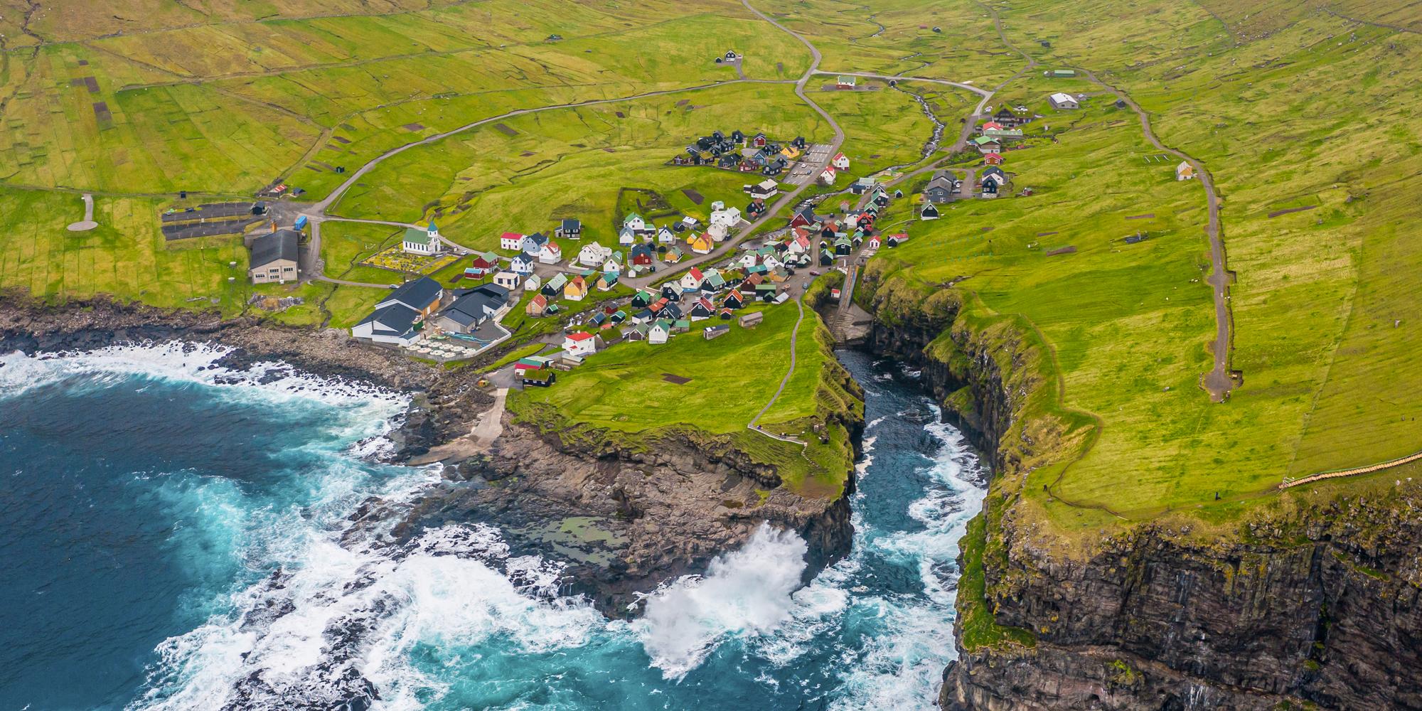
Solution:
[{"label": "whole blue and turquoise sea with white surf, including the gorge inlet", "polygon": [[405,398],[223,353],[0,358],[0,711],[933,708],[985,472],[913,373],[840,353],[848,559],[762,528],[609,621],[489,526],[353,526],[438,481],[378,464]]}]

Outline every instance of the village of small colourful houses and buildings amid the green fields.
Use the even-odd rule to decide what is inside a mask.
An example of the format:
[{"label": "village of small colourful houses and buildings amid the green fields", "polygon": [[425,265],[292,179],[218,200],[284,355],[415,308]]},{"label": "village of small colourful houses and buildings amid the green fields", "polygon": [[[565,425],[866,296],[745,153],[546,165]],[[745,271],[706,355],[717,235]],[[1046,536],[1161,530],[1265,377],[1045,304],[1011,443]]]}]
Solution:
[{"label": "village of small colourful houses and buildings amid the green fields", "polygon": [[[852,80],[840,81],[853,88]],[[1058,92],[1047,97],[1047,102],[1066,111],[1078,108],[1081,98]],[[933,171],[913,196],[916,208],[907,222],[940,219],[943,206],[954,201],[1008,193],[1011,173],[1004,169],[1005,154],[1021,148],[1022,127],[1037,117],[1017,105],[1001,107],[984,118],[967,141],[980,162],[967,169]],[[904,198],[903,189],[890,189],[903,176],[877,175],[803,201],[784,226],[729,249],[727,240],[762,218],[768,201],[782,193],[776,176],[788,173],[786,181],[793,182],[802,175],[832,188],[840,173],[849,172],[849,158],[843,152],[830,156],[828,148],[808,144],[803,137],[776,141],[764,132],[739,129],[700,137],[667,165],[762,178],[742,186],[745,206],[712,201],[704,223],[678,216],[657,225],[629,212],[607,245],[584,240],[584,225],[577,218],[562,218],[528,233],[503,232],[498,249],[482,252],[448,242],[434,222],[408,226],[398,245],[365,263],[429,274],[468,259],[455,282],[471,286],[447,287],[429,276],[391,286],[390,294],[350,333],[371,344],[401,348],[411,357],[455,363],[513,337],[508,320],[556,320],[556,328],[539,334],[545,348],[513,363],[518,383],[546,387],[556,381],[556,371],[570,370],[619,343],[656,346],[693,333],[711,340],[732,327],[754,328],[765,307],[798,299],[822,270],[848,274],[852,263],[863,263],[880,247],[896,247],[909,239],[907,225],[887,235],[876,228],[890,202]],[[1176,178],[1187,179],[1192,171],[1182,164]],[[843,196],[838,212],[816,209],[836,195]],[[1031,188],[1020,195],[1031,195]],[[252,250],[247,273],[255,284],[294,282],[300,273],[299,243],[306,216],[297,216],[292,228],[277,229],[274,220],[272,228],[267,235],[247,237]],[[728,247],[724,253],[722,246]],[[840,297],[838,289],[832,297]],[[515,313],[518,319],[510,319]]]}]

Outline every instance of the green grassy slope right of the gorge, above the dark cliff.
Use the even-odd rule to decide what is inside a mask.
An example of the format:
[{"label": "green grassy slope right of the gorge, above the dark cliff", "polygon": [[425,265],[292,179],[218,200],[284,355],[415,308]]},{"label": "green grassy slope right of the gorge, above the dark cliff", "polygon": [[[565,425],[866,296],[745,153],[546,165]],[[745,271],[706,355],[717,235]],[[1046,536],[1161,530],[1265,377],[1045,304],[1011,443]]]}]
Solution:
[{"label": "green grassy slope right of the gorge, above the dark cliff", "polygon": [[[1422,43],[1310,9],[1216,4],[1206,3],[1212,16],[1143,3],[1109,23],[1106,3],[998,9],[1008,38],[1044,68],[1089,68],[1126,90],[1166,144],[1214,175],[1239,274],[1233,365],[1244,381],[1229,402],[1210,405],[1196,387],[1213,328],[1196,282],[1207,264],[1203,192],[1173,181],[1175,159],[1148,162],[1159,151],[1109,97],[1078,112],[1042,102],[1101,91],[1085,78],[1034,73],[994,98],[1047,114],[1030,134],[1049,127],[1055,139],[1030,141],[1004,166],[1035,196],[956,203],[873,267],[921,289],[961,279],[960,323],[1039,343],[1044,387],[1059,381],[1065,410],[1038,414],[1095,438],[1064,439],[1089,448],[1071,444],[1020,491],[1068,529],[1118,519],[1064,501],[1220,522],[1285,476],[1422,449],[1412,419],[1422,368],[1409,357],[1422,343],[1411,296],[1422,245],[1406,198],[1422,191],[1408,61]],[[1138,229],[1145,242],[1119,242]],[[1045,255],[1064,246],[1076,252]]]}]

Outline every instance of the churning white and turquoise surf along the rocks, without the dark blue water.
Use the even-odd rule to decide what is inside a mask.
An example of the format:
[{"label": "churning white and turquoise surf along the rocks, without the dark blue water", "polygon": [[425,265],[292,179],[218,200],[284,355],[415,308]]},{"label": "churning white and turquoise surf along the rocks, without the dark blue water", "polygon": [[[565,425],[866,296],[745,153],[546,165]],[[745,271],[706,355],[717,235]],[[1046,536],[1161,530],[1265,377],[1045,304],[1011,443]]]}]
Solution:
[{"label": "churning white and turquoise surf along the rocks, without the dark blue water", "polygon": [[[954,654],[957,540],[983,472],[907,385],[870,391],[849,557],[801,587],[806,542],[762,525],[705,574],[647,594],[627,623],[560,596],[562,566],[510,553],[493,528],[397,529],[441,479],[373,461],[404,395],[279,363],[230,371],[218,364],[226,353],[0,357],[7,392],[199,388],[309,425],[266,488],[144,475],[189,512],[198,533],[183,535],[199,543],[182,555],[228,563],[192,592],[201,623],[158,644],[129,711],[933,707]],[[846,361],[860,381],[882,373]],[[906,410],[934,421],[896,417]]]}]

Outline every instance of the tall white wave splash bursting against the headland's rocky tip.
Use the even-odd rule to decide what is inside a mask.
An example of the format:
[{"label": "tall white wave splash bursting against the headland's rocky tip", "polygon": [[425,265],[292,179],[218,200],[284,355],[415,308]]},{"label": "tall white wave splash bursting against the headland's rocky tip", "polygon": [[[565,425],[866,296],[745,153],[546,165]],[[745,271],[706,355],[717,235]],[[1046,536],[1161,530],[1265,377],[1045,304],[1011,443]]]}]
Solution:
[{"label": "tall white wave splash bursting against the headland's rocky tip", "polygon": [[754,637],[791,619],[809,547],[762,523],[739,550],[717,556],[705,576],[681,577],[647,599],[636,624],[651,663],[681,678],[727,637]]}]

